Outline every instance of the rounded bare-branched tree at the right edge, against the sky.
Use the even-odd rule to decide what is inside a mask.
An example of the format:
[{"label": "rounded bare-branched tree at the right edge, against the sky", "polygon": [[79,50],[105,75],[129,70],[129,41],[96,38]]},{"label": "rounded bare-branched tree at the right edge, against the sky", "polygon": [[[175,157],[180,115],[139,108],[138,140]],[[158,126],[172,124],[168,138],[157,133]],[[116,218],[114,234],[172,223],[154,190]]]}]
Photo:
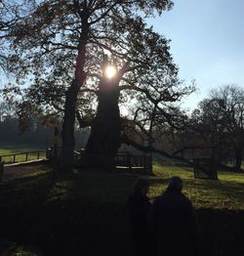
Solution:
[{"label": "rounded bare-branched tree at the right edge, against the sky", "polygon": [[[220,160],[224,151],[235,155],[235,170],[241,171],[244,147],[244,89],[226,85],[213,90],[194,111],[192,121],[205,146],[216,148]],[[218,152],[217,152],[218,150]]]}]

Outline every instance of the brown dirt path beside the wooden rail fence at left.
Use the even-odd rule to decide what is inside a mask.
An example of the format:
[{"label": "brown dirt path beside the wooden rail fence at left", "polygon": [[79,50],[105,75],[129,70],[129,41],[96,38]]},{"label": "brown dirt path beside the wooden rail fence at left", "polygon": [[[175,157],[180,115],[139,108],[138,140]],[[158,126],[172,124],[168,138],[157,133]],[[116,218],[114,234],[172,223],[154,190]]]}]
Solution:
[{"label": "brown dirt path beside the wooden rail fence at left", "polygon": [[[12,164],[4,166],[3,181],[20,179],[30,174],[46,172],[49,170],[45,162],[32,161],[29,163]],[[50,168],[51,170],[51,168]]]}]

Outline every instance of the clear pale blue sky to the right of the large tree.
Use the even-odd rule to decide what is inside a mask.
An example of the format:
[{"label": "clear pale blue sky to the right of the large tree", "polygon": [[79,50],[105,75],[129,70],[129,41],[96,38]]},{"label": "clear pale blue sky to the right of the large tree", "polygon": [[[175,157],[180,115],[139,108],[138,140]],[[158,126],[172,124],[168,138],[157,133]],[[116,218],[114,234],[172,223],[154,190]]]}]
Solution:
[{"label": "clear pale blue sky to the right of the large tree", "polygon": [[244,86],[244,0],[175,0],[170,12],[150,20],[171,39],[171,53],[180,78],[196,80],[198,93],[187,107],[196,107],[213,88]]}]

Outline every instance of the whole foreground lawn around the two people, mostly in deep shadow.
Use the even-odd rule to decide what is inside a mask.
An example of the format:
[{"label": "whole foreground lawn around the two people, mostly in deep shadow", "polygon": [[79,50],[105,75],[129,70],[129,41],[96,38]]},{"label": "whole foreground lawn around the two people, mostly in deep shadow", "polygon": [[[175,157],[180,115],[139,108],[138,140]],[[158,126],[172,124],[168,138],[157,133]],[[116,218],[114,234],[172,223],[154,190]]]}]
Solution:
[{"label": "whole foreground lawn around the two people, mostly in deep shadow", "polygon": [[208,255],[244,255],[243,174],[219,173],[218,181],[208,181],[194,180],[191,168],[156,163],[153,170],[154,176],[81,170],[55,183],[49,173],[4,184],[0,236],[37,245],[44,255],[127,256],[133,185],[139,177],[148,179],[153,200],[169,177],[179,175],[197,210]]}]

